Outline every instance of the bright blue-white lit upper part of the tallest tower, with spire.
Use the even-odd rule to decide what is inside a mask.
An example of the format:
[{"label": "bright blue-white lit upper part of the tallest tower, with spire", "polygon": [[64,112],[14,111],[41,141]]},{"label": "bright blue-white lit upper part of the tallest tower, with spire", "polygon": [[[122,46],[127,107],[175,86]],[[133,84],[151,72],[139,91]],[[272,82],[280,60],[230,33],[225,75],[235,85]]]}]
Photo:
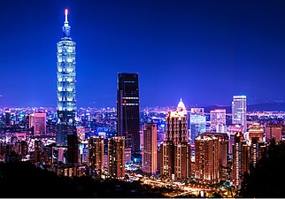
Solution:
[{"label": "bright blue-white lit upper part of the tallest tower, with spire", "polygon": [[70,26],[65,10],[63,37],[58,42],[58,111],[76,111],[75,45],[70,37]]}]

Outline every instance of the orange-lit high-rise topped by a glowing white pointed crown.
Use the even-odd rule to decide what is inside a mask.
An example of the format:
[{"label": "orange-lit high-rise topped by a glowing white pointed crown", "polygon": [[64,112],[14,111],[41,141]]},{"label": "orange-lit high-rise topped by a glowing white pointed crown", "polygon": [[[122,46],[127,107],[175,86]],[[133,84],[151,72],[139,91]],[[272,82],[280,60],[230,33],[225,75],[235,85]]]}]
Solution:
[{"label": "orange-lit high-rise topped by a glowing white pointed crown", "polygon": [[191,175],[188,119],[186,109],[180,106],[181,102],[177,111],[169,111],[166,116],[166,140],[158,151],[160,174],[175,179],[190,178]]}]

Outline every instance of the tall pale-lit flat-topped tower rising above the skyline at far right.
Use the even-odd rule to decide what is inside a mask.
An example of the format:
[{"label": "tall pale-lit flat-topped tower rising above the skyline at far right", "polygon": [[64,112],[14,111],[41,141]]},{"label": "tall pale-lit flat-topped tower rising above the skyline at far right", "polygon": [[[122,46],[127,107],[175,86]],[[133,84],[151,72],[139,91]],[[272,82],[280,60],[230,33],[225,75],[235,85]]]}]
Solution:
[{"label": "tall pale-lit flat-topped tower rising above the skyline at far right", "polygon": [[246,126],[246,96],[233,96],[232,123],[233,123],[233,125],[242,125],[243,126],[243,133],[247,130],[247,126]]}]

